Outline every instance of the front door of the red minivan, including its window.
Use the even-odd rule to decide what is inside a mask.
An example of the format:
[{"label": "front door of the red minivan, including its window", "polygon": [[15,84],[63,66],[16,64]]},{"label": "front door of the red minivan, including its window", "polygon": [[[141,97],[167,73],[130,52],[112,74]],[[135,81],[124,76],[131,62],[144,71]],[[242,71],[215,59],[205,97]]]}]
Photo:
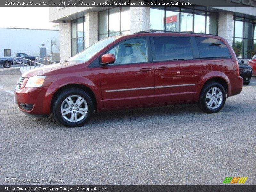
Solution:
[{"label": "front door of the red minivan, including its window", "polygon": [[154,103],[154,68],[145,37],[125,40],[106,53],[116,62],[100,66],[104,108]]}]

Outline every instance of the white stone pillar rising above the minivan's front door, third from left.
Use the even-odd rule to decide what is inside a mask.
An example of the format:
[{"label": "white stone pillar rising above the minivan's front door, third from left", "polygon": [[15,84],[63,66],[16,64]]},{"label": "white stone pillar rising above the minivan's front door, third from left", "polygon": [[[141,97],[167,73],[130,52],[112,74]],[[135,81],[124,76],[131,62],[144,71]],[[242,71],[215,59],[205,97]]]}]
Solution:
[{"label": "white stone pillar rising above the minivan's front door, third from left", "polygon": [[130,28],[131,34],[138,31],[149,30],[150,8],[149,7],[130,7],[130,10],[131,10],[131,28]]}]

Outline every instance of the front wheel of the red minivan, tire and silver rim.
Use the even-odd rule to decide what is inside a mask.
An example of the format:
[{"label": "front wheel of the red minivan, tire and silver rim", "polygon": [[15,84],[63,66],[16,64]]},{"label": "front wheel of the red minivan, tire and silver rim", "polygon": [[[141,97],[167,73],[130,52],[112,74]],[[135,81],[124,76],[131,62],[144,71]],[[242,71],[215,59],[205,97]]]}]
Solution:
[{"label": "front wheel of the red minivan, tire and silver rim", "polygon": [[89,94],[82,89],[70,88],[57,95],[52,109],[55,119],[60,124],[66,127],[79,127],[91,118],[93,102]]}]

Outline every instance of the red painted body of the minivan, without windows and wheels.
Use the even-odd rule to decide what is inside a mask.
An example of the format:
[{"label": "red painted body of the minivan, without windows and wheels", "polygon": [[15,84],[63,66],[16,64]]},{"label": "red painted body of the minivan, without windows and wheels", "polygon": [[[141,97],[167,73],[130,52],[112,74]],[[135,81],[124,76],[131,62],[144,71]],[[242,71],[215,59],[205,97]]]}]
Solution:
[{"label": "red painted body of the minivan, without windows and wheels", "polygon": [[[137,64],[112,65],[88,68],[110,47],[132,37],[150,36],[200,36],[216,38],[228,47],[232,58],[224,59],[193,59],[170,62],[147,62]],[[150,52],[149,52],[150,53]],[[256,71],[256,70],[255,70]],[[46,76],[42,87],[25,87],[28,77]],[[218,36],[176,33],[148,33],[122,35],[108,44],[96,55],[84,63],[53,64],[25,72],[20,90],[15,90],[15,100],[20,103],[34,104],[32,110],[21,111],[33,115],[51,113],[52,100],[60,89],[76,84],[92,92],[96,110],[114,110],[125,108],[152,107],[179,103],[196,103],[202,87],[208,80],[218,79],[227,84],[227,96],[239,94],[243,79],[239,76],[236,55],[228,42]],[[193,84],[193,86],[179,86]],[[161,88],[161,86],[172,87]],[[177,86],[176,86],[177,85]],[[156,89],[155,87],[159,87]],[[108,90],[133,89],[151,87],[151,89],[129,90],[122,92],[106,92]]]}]

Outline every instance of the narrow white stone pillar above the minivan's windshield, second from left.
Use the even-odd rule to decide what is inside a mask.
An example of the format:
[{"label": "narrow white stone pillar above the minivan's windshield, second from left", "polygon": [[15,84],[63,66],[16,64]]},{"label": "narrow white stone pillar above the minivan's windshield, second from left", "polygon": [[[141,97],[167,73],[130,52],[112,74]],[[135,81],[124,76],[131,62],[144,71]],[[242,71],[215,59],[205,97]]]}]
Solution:
[{"label": "narrow white stone pillar above the minivan's windshield, second from left", "polygon": [[98,12],[85,14],[85,48],[98,41]]}]

